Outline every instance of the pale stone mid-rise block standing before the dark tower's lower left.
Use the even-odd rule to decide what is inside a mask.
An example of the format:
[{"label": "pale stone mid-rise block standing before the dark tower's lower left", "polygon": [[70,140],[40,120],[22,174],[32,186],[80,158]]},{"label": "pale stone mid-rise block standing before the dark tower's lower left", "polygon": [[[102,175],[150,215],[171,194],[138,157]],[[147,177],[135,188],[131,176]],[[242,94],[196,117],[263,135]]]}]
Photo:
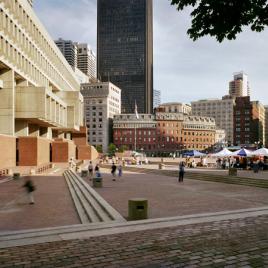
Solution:
[{"label": "pale stone mid-rise block standing before the dark tower's lower left", "polygon": [[112,142],[112,119],[121,113],[121,89],[110,82],[83,84],[88,142],[107,152]]}]

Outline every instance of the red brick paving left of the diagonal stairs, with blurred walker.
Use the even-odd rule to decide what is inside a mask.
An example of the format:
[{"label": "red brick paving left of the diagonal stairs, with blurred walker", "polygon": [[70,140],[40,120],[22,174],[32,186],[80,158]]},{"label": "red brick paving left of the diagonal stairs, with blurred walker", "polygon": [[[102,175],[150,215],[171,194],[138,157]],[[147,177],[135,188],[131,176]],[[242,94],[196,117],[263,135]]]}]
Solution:
[{"label": "red brick paving left of the diagonal stairs, with blurred walker", "polygon": [[79,224],[62,176],[34,176],[35,204],[29,205],[24,181],[0,184],[0,231]]}]

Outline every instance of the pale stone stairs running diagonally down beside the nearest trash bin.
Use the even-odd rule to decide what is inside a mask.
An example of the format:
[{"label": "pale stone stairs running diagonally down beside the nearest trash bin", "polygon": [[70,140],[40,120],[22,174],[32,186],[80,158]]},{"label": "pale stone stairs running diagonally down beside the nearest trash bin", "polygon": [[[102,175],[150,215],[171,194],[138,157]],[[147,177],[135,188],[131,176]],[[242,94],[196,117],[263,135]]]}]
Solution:
[{"label": "pale stone stairs running diagonally down beside the nearest trash bin", "polygon": [[76,173],[67,170],[63,176],[82,224],[126,221]]}]

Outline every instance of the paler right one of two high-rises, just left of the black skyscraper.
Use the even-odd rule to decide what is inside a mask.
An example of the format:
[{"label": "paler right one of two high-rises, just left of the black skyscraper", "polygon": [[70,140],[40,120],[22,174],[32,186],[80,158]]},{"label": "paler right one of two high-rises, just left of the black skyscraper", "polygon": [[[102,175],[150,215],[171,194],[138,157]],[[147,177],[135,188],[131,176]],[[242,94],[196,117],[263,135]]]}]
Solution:
[{"label": "paler right one of two high-rises, just left of the black skyscraper", "polygon": [[96,79],[96,55],[88,44],[77,45],[77,68],[90,79]]}]

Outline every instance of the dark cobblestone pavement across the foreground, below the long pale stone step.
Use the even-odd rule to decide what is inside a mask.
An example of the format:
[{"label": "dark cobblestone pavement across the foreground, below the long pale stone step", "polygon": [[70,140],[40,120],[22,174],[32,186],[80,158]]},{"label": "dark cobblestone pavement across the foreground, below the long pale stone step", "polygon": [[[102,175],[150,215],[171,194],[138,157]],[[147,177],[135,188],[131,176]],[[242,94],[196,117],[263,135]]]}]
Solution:
[{"label": "dark cobblestone pavement across the foreground, below the long pale stone step", "polygon": [[0,267],[268,267],[268,215],[0,249]]}]

